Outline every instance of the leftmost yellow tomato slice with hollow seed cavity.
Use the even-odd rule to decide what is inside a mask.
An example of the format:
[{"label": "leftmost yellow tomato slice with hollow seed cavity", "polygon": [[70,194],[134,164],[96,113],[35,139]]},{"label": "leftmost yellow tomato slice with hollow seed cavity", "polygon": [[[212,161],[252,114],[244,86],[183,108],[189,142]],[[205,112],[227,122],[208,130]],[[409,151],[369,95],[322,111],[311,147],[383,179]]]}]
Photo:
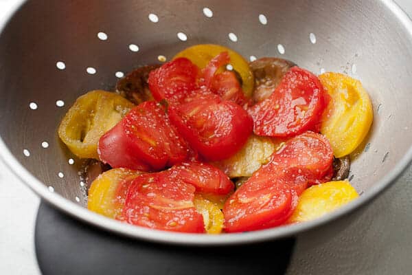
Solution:
[{"label": "leftmost yellow tomato slice with hollow seed cavity", "polygon": [[99,159],[100,137],[119,122],[134,104],[109,91],[89,91],[67,111],[58,136],[80,158]]}]

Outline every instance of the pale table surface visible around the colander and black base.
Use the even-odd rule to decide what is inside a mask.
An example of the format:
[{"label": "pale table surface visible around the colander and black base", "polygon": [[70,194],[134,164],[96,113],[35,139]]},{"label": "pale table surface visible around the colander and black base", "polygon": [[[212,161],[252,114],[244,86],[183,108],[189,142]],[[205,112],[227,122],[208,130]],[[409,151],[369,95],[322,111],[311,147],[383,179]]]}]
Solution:
[{"label": "pale table surface visible around the colander and black base", "polygon": [[[0,25],[19,2],[0,0]],[[412,15],[412,0],[397,2]],[[40,274],[34,252],[39,202],[0,160],[0,274]],[[337,269],[343,274],[412,274],[411,228],[409,168],[361,217],[333,238],[319,241],[313,233],[298,236],[288,274],[336,274]]]}]

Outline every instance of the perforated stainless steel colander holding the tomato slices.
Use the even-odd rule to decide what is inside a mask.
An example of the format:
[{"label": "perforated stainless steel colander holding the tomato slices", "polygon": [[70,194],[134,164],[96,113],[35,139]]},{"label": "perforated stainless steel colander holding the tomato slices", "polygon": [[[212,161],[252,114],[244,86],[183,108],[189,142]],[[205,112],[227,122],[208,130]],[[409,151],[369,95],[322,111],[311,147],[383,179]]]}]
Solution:
[{"label": "perforated stainless steel colander holding the tomato slices", "polygon": [[[220,236],[149,230],[85,209],[82,160],[56,133],[62,116],[81,94],[113,90],[133,68],[199,43],[360,79],[374,104],[350,173],[360,199],[316,221]],[[400,175],[412,157],[411,76],[412,23],[390,0],[27,1],[0,36],[0,155],[45,201],[107,230],[198,245],[274,239],[359,208]]]}]

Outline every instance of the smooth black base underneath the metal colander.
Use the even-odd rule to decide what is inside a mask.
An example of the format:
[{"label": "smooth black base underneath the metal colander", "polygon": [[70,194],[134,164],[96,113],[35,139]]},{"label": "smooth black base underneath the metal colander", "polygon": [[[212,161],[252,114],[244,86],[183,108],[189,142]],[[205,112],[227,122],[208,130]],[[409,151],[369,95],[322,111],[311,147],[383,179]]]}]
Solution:
[{"label": "smooth black base underneath the metal colander", "polygon": [[295,239],[255,245],[184,248],[136,241],[82,223],[42,202],[36,256],[45,275],[284,274]]}]

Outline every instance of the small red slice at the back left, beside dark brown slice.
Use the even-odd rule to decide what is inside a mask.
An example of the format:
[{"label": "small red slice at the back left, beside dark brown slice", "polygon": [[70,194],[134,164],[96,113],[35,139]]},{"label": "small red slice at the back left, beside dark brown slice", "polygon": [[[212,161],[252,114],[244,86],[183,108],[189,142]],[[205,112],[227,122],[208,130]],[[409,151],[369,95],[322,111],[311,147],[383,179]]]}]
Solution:
[{"label": "small red slice at the back left, beside dark brown slice", "polygon": [[176,58],[149,74],[153,98],[179,103],[197,88],[199,69],[187,58]]}]

